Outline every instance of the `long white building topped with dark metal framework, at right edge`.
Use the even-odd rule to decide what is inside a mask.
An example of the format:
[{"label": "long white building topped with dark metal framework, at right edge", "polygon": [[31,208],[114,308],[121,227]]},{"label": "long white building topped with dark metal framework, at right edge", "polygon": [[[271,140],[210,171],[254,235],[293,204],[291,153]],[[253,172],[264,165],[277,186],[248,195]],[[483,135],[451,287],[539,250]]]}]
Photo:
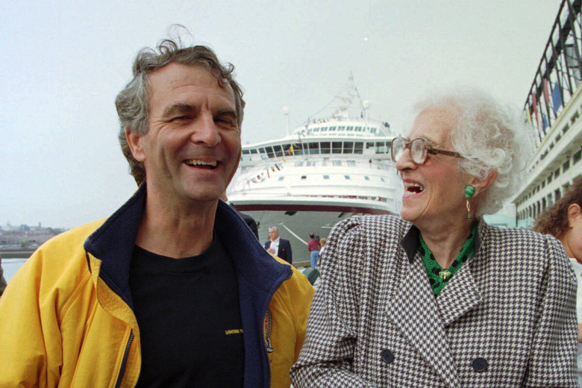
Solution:
[{"label": "long white building topped with dark metal framework, at right edge", "polygon": [[516,222],[535,218],[582,175],[582,0],[563,0],[524,110],[535,136],[527,179],[513,200]]}]

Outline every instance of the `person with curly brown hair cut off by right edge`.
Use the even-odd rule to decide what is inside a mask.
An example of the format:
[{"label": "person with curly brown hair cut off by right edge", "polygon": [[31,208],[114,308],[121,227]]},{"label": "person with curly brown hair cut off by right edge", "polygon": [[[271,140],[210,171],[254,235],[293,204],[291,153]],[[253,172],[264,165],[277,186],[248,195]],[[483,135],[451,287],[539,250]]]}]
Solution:
[{"label": "person with curly brown hair cut off by right edge", "polygon": [[574,184],[566,195],[535,220],[534,230],[544,234],[552,234],[562,242],[576,273],[578,282],[576,292],[576,316],[578,319],[576,364],[578,383],[582,387],[582,177],[574,180]]}]

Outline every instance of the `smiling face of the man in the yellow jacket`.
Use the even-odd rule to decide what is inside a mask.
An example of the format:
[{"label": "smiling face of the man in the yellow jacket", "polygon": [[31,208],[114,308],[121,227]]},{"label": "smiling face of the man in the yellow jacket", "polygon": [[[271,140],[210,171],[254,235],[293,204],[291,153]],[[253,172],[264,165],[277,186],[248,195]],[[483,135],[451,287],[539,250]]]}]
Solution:
[{"label": "smiling face of the man in the yellow jacket", "polygon": [[168,205],[217,201],[240,160],[232,88],[220,87],[203,67],[177,63],[148,78],[148,133],[127,136],[134,158],[144,162],[148,196]]}]

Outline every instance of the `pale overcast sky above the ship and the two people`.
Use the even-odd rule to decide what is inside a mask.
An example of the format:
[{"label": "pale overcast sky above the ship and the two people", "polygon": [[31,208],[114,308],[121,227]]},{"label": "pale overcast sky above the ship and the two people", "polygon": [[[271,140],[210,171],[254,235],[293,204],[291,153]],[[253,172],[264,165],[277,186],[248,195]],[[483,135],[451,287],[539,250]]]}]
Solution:
[{"label": "pale overcast sky above the ship and the two people", "polygon": [[236,67],[243,144],[320,111],[350,70],[370,116],[406,133],[434,87],[523,107],[561,0],[38,1],[0,13],[0,225],[74,227],[135,190],[113,101],[140,48],[186,26]]}]

